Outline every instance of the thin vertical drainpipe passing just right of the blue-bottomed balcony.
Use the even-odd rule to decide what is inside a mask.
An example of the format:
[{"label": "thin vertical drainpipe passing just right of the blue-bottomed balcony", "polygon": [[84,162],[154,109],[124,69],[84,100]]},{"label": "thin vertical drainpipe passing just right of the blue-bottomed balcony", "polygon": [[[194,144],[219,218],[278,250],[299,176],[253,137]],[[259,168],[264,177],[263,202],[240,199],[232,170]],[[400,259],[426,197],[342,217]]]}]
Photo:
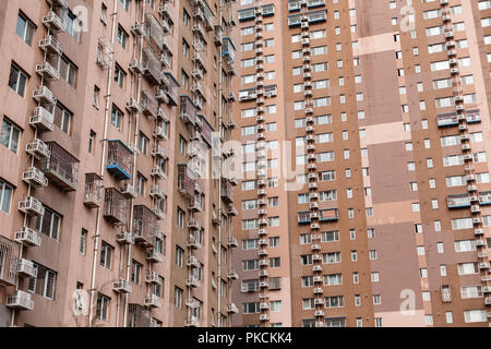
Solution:
[{"label": "thin vertical drainpipe passing just right of the blue-bottomed balcony", "polygon": [[[145,21],[145,2],[143,2],[142,8],[142,23]],[[143,36],[140,38],[140,62],[142,61],[142,55],[143,55]],[[141,87],[142,87],[142,76],[139,75],[137,77],[137,85],[136,85],[136,101],[140,105],[140,98],[141,98]],[[136,113],[135,123],[134,123],[134,147],[136,147],[137,144],[137,137],[139,137],[139,124],[140,124],[140,113]],[[130,130],[131,133],[131,130]],[[131,139],[131,135],[129,135]],[[133,155],[133,169],[132,169],[132,185],[135,188],[135,178],[136,178],[136,154]],[[133,215],[134,215],[134,208],[133,208],[133,198],[130,200],[130,234],[133,236]],[[128,257],[127,257],[127,277],[125,279],[130,279],[130,270],[131,270],[131,244],[128,245]],[[128,323],[128,301],[129,301],[130,294],[124,294],[124,314],[123,314],[123,327],[127,327]]]}]

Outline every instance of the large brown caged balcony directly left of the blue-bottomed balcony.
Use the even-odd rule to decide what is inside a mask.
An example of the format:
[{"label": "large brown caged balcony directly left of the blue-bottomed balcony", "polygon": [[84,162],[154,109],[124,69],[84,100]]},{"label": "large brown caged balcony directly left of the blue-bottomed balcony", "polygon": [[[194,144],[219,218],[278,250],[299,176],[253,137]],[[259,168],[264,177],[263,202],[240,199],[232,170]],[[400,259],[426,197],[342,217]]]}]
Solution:
[{"label": "large brown caged balcony directly left of the blue-bottomed balcony", "polygon": [[56,142],[46,143],[51,155],[43,161],[43,171],[51,183],[67,192],[76,190],[80,161]]}]

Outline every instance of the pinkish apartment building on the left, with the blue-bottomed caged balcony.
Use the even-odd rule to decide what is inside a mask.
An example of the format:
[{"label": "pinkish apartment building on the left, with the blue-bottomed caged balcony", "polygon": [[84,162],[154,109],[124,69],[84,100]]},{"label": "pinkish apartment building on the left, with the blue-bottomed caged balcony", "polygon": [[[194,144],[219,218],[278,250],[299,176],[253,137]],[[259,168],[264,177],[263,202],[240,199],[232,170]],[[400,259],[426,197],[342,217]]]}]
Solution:
[{"label": "pinkish apartment building on the left, with the blue-bottomed caged balcony", "polygon": [[0,17],[1,326],[231,325],[230,2]]}]

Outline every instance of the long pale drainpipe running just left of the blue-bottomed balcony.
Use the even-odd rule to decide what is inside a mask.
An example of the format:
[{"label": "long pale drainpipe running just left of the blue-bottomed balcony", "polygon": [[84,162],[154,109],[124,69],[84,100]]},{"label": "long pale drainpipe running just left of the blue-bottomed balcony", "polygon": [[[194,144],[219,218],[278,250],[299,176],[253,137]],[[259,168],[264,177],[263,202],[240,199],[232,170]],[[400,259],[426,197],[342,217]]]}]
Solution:
[{"label": "long pale drainpipe running just left of the blue-bottomed balcony", "polygon": [[[118,0],[113,2],[113,12],[112,16],[112,29],[111,29],[111,47],[115,45],[115,34],[116,34],[116,17],[118,15]],[[113,48],[112,48],[113,50]],[[106,96],[106,110],[105,110],[105,120],[104,120],[104,137],[103,137],[103,154],[100,159],[100,171],[99,174],[104,178],[104,164],[106,163],[106,152],[107,152],[107,123],[109,121],[109,108],[110,108],[110,97],[111,97],[111,81],[112,81],[112,63],[113,51],[111,52],[111,60],[109,61],[109,72],[107,76],[107,96]],[[98,244],[100,237],[100,206],[97,207],[97,218],[96,218],[96,233],[94,236],[94,260],[92,262],[92,280],[91,280],[91,302],[88,306],[88,327],[92,327],[92,318],[94,316],[94,291],[95,291],[95,279],[96,279],[96,270],[97,270],[97,253],[98,253]]]}]

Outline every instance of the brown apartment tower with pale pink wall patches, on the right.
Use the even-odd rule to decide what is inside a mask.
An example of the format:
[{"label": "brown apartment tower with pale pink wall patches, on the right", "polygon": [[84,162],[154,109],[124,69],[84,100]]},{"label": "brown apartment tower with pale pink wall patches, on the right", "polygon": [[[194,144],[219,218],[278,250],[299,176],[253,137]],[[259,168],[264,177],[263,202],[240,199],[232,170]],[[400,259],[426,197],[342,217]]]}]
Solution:
[{"label": "brown apartment tower with pale pink wall patches, on the right", "polygon": [[489,326],[491,1],[237,19],[233,325]]}]

